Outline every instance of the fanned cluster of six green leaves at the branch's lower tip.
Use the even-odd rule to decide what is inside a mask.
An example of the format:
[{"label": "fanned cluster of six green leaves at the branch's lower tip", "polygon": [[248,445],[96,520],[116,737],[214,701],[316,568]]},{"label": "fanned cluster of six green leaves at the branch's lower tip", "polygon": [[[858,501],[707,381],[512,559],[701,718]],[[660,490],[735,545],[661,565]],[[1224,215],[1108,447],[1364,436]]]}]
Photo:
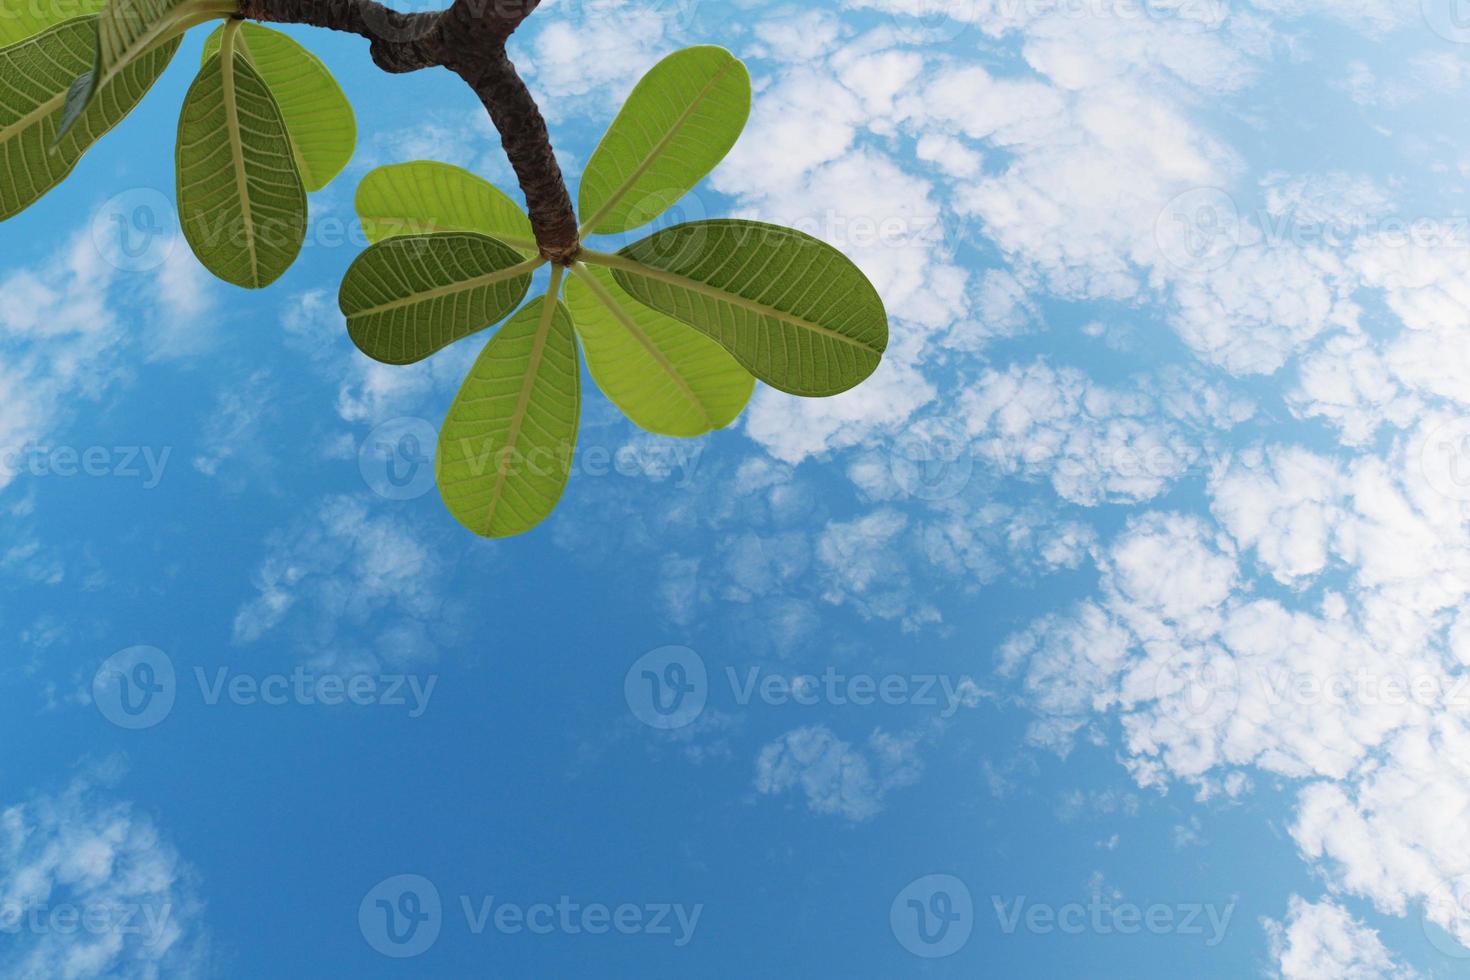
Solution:
[{"label": "fanned cluster of six green leaves at the branch's lower tip", "polygon": [[[582,237],[622,235],[664,213],[725,157],[748,113],[750,75],[729,51],[662,60],[588,160]],[[542,263],[520,209],[442,163],[373,170],[357,213],[375,244],[347,270],[340,303],[353,341],[379,361],[417,361],[510,316]],[[637,425],[697,436],[729,425],[757,378],[798,395],[847,391],[886,341],[863,273],[788,228],[701,220],[617,253],[584,245],[470,369],[440,430],[440,495],[490,536],[551,511],[576,442],[579,351]]]}]

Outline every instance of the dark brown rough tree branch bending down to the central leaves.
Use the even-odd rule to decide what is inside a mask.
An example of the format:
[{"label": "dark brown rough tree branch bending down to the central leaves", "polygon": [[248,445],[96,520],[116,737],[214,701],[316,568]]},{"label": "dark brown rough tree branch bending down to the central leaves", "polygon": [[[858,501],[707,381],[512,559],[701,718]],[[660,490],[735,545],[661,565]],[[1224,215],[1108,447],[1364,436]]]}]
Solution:
[{"label": "dark brown rough tree branch bending down to the central leaves", "polygon": [[506,40],[539,0],[454,0],[438,13],[400,13],[376,0],[240,0],[240,16],[359,34],[385,72],[447,68],[479,96],[526,197],[541,254],[569,264],[578,253],[576,216],[545,120]]}]

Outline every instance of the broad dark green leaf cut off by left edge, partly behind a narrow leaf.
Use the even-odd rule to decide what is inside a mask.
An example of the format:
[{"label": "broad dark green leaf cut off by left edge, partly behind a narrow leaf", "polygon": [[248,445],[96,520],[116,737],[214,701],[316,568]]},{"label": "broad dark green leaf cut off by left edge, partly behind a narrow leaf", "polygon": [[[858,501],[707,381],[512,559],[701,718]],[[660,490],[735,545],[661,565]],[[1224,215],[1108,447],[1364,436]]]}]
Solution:
[{"label": "broad dark green leaf cut off by left edge, partly behind a narrow leaf", "polygon": [[175,50],[178,41],[171,41],[134,62],[101,88],[60,140],[56,128],[68,91],[96,57],[97,18],[68,21],[0,50],[6,82],[0,85],[0,219],[25,210],[66,179],[91,144],[138,104]]}]

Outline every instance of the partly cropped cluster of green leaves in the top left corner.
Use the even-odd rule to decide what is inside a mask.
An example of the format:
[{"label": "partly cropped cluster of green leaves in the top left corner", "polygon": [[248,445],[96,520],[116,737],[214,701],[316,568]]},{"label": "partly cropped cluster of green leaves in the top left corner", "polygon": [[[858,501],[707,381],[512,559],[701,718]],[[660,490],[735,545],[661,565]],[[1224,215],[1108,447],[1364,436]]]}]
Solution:
[{"label": "partly cropped cluster of green leaves in the top left corner", "polygon": [[[0,217],[32,204],[143,98],[188,28],[232,0],[54,0],[0,19]],[[178,212],[216,276],[269,285],[306,241],[306,192],[353,156],[357,123],[326,66],[279,31],[226,19],[179,112]]]}]

